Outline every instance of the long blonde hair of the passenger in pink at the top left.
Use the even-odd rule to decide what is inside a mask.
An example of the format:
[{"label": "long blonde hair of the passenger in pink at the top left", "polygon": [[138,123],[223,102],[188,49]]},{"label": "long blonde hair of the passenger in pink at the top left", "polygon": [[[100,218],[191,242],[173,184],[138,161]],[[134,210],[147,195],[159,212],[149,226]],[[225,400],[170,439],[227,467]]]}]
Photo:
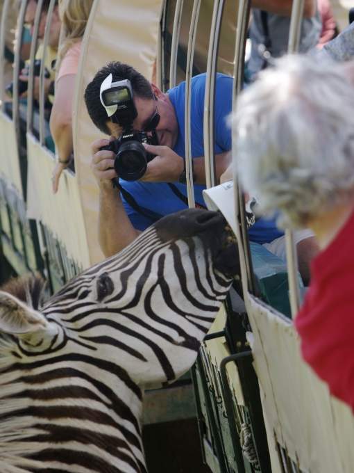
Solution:
[{"label": "long blonde hair of the passenger in pink at the top left", "polygon": [[64,28],[64,40],[58,52],[56,70],[62,58],[76,42],[83,38],[94,0],[59,0],[59,15]]}]

